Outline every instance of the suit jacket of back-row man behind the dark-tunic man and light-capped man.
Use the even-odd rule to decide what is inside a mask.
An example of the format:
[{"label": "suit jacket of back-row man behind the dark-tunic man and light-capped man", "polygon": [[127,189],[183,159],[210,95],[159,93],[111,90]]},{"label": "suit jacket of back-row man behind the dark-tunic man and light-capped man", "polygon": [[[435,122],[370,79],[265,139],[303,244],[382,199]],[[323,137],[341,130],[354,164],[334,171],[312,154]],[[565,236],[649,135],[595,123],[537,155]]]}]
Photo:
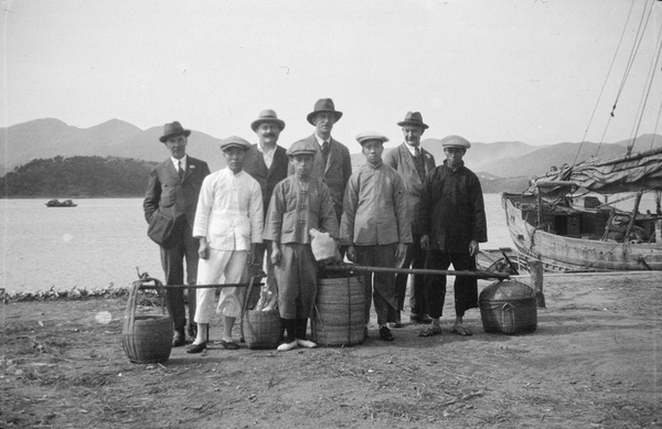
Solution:
[{"label": "suit jacket of back-row man behind the dark-tunic man and light-capped man", "polygon": [[[423,148],[420,148],[420,154],[425,164],[425,175],[427,175],[435,168],[435,157]],[[389,150],[384,157],[384,163],[397,170],[405,182],[409,218],[412,219],[412,224],[414,224],[418,213],[424,181],[418,175],[414,157],[407,149],[407,143],[402,143],[397,148]],[[414,234],[419,235],[420,233],[419,230],[414,230]]]}]

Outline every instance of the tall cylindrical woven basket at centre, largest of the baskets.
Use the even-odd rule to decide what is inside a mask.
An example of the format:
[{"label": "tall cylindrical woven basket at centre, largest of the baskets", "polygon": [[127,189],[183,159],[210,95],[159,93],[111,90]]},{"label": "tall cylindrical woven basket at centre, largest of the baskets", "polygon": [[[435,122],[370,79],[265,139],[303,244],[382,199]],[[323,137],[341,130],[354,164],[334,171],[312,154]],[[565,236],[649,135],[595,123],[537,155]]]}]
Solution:
[{"label": "tall cylindrical woven basket at centre, largest of the baskets", "polygon": [[364,328],[363,277],[319,278],[312,341],[328,346],[361,344],[365,341]]}]

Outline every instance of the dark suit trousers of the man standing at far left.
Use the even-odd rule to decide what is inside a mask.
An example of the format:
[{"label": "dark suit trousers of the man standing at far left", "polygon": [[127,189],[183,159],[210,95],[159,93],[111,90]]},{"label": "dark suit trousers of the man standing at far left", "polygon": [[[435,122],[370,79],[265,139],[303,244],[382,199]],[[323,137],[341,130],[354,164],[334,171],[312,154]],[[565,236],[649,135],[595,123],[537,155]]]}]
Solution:
[{"label": "dark suit trousers of the man standing at far left", "polygon": [[[166,275],[166,285],[184,285],[184,259],[186,261],[186,283],[195,285],[197,278],[199,243],[193,238],[193,228],[184,216],[174,224],[168,247],[161,246],[161,266]],[[186,292],[189,299],[189,321],[195,318],[195,290]],[[186,325],[186,309],[183,289],[169,289],[166,292],[168,312],[172,318],[175,330]]]}]

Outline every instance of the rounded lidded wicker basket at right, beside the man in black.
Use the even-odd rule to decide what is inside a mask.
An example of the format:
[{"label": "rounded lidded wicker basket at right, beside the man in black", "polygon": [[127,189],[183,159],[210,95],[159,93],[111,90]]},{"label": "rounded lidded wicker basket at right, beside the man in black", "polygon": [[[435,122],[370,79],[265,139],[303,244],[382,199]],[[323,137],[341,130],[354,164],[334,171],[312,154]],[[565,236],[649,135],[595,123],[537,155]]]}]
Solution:
[{"label": "rounded lidded wicker basket at right, beside the man in black", "polygon": [[537,328],[535,291],[515,280],[495,281],[480,292],[480,317],[485,332],[516,334]]}]

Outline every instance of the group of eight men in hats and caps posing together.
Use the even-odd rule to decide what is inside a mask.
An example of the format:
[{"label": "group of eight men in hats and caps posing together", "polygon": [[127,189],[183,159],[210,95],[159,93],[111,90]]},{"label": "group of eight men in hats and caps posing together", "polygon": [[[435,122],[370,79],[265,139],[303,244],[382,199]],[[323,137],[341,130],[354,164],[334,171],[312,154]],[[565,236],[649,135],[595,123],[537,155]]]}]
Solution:
[{"label": "group of eight men in hats and caps posing together", "polygon": [[[307,116],[314,132],[286,150],[277,144],[285,121],[274,110],[263,110],[250,124],[258,143],[236,136],[224,139],[227,165],[214,173],[186,154],[190,130],[177,121],[164,126],[160,141],[170,158],[150,174],[143,202],[148,234],[160,245],[167,285],[184,283],[184,265],[188,285],[224,285],[217,304],[224,348],[238,348],[232,329],[246,299],[246,288],[233,285],[246,283],[263,265],[268,287],[277,290],[285,326],[278,350],[316,346],[306,334],[318,276],[311,229],[328,233],[342,257],[363,266],[476,268],[487,223],[480,182],[462,161],[469,141],[445,138],[447,159],[437,167],[420,147],[428,126],[419,112],[407,112],[397,122],[404,142],[385,157],[386,136],[356,136],[366,163],[352,172],[350,151],[331,137],[341,117],[331,99],[318,100]],[[364,276],[366,334],[374,302],[378,336],[394,340],[391,329],[403,325],[407,282],[407,274]],[[441,333],[445,296],[446,276],[414,276],[410,321],[426,325],[420,336]],[[214,298],[213,288],[188,293],[189,353],[206,348]],[[455,298],[452,332],[470,335],[462,317],[478,305],[476,279],[457,277]],[[183,289],[169,289],[167,304],[174,323],[172,345],[183,346]]]}]

